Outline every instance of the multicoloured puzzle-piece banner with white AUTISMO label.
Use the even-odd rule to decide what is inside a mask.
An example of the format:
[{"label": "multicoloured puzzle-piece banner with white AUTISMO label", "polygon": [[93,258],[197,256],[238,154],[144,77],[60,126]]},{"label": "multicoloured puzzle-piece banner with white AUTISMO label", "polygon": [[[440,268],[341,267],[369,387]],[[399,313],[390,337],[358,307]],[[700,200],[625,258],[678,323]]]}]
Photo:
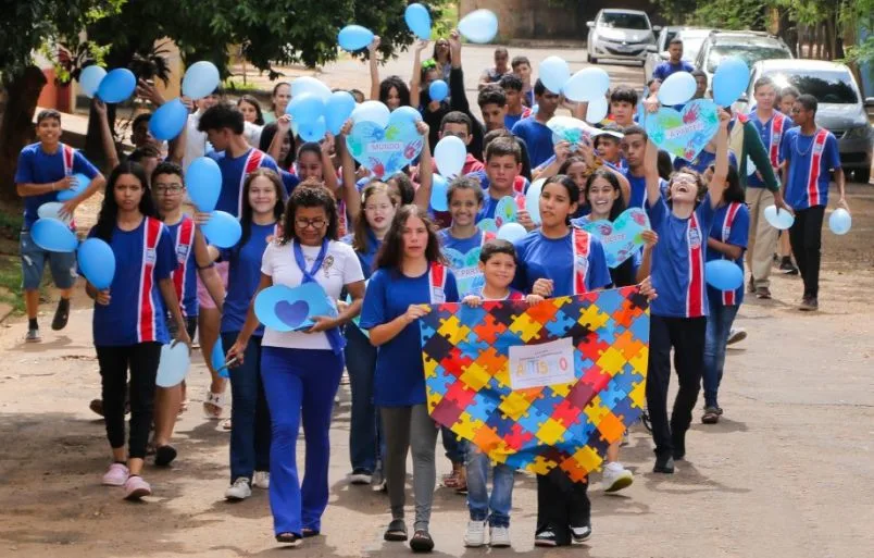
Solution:
[{"label": "multicoloured puzzle-piece banner with white AUTISMO label", "polygon": [[[637,287],[535,306],[434,305],[420,326],[428,412],[497,462],[585,482],[644,410],[649,307]],[[512,388],[510,347],[565,338],[572,382]]]}]

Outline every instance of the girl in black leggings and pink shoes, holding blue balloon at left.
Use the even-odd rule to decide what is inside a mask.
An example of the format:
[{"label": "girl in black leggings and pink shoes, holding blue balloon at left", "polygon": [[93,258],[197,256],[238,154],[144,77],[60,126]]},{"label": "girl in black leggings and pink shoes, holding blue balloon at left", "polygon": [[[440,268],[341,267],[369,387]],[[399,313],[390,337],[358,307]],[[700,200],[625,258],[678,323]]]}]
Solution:
[{"label": "girl in black leggings and pink shoes, holding blue balloon at left", "polygon": [[[141,166],[122,163],[112,171],[97,224],[88,236],[105,241],[115,263],[110,281],[98,281],[92,272],[91,277],[86,274],[86,293],[95,300],[93,339],[113,459],[103,475],[103,484],[124,486],[125,498],[139,499],[151,494],[151,486],[142,480],[141,472],[152,422],[161,346],[170,340],[164,320],[166,312],[176,323],[175,343],[191,344],[171,278],[176,268],[173,239],[157,216]],[[105,269],[105,265],[98,265],[98,269]],[[125,456],[128,370],[130,436]]]}]

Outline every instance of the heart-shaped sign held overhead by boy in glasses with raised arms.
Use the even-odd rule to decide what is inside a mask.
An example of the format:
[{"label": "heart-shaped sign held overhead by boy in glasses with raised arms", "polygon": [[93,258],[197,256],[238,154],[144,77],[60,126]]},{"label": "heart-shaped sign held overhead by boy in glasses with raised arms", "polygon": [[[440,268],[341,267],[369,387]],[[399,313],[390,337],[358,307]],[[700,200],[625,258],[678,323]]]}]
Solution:
[{"label": "heart-shaped sign held overhead by boy in glasses with raised arms", "polygon": [[719,107],[707,99],[688,102],[682,111],[662,107],[647,115],[646,128],[660,149],[691,161],[719,131]]}]

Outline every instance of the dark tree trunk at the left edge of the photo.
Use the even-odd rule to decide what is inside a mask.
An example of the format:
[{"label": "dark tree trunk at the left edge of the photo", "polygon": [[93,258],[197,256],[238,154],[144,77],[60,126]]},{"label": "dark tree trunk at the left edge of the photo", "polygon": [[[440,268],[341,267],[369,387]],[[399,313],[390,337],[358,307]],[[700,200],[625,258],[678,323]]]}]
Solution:
[{"label": "dark tree trunk at the left edge of the photo", "polygon": [[18,153],[34,137],[34,112],[42,87],[47,84],[42,71],[28,66],[22,75],[10,76],[5,85],[7,106],[0,121],[0,198],[17,198],[15,168]]}]

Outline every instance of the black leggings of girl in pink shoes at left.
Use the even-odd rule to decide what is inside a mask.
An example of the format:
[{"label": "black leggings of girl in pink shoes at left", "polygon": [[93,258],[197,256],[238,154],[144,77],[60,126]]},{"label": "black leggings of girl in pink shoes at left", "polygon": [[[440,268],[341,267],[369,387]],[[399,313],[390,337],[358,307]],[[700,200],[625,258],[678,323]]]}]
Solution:
[{"label": "black leggings of girl in pink shoes at left", "polygon": [[103,418],[107,438],[113,449],[124,447],[124,401],[127,369],[130,369],[130,441],[128,457],[143,459],[154,407],[154,380],[161,359],[155,342],[126,347],[96,347],[100,363]]}]

